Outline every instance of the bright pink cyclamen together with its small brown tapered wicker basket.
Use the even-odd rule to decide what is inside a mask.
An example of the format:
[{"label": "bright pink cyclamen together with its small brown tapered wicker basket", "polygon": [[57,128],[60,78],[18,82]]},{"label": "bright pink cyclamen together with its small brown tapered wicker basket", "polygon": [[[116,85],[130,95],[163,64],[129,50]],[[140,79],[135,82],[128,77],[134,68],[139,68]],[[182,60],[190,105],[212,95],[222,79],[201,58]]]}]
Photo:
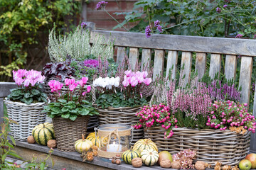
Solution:
[{"label": "bright pink cyclamen together with its small brown tapered wicker basket", "polygon": [[[99,114],[90,102],[91,86],[86,86],[87,80],[87,77],[79,81],[67,78],[65,85],[56,80],[48,82],[55,101],[48,103],[44,111],[53,118],[57,148],[63,152],[75,152],[75,141],[85,135],[90,116]],[[75,93],[78,84],[78,93]],[[63,86],[68,91],[61,91]]]}]

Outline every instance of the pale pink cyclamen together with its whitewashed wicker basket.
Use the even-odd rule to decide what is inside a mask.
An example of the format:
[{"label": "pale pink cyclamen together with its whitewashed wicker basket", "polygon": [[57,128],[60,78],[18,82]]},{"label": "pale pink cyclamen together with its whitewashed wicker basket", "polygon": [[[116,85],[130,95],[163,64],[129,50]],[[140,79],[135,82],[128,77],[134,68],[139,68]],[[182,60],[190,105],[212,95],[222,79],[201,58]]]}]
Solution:
[{"label": "pale pink cyclamen together with its whitewashed wicker basket", "polygon": [[33,69],[18,69],[13,71],[13,78],[18,88],[11,89],[11,94],[5,98],[9,118],[18,124],[11,124],[11,135],[15,140],[26,141],[33,128],[45,123],[46,113],[43,113],[47,95],[42,92],[45,77]]}]

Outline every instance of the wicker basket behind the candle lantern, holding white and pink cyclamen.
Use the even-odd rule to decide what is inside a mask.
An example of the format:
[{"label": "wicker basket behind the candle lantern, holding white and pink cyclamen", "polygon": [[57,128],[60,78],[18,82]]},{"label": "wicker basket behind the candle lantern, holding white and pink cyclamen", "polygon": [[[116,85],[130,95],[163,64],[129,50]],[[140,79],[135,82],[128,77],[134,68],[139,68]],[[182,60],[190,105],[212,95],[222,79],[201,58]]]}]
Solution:
[{"label": "wicker basket behind the candle lantern, holding white and pink cyclamen", "polygon": [[[132,125],[139,122],[139,118],[136,115],[139,108],[97,108],[97,111],[100,113],[100,125],[116,123]],[[131,145],[134,145],[135,142],[142,138],[144,138],[143,129],[132,130],[132,135],[130,137]]]}]

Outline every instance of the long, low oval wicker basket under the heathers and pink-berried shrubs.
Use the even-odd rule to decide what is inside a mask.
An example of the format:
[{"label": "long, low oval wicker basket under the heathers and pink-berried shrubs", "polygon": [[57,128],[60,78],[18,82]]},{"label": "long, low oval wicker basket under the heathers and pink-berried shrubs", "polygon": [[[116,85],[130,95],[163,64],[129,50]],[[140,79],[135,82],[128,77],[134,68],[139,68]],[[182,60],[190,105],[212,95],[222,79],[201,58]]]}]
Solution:
[{"label": "long, low oval wicker basket under the heathers and pink-berried shrubs", "polygon": [[145,128],[145,136],[151,138],[159,147],[176,154],[183,149],[198,151],[196,160],[208,162],[212,166],[215,162],[223,165],[237,165],[244,159],[250,149],[250,132],[238,135],[230,130],[196,130],[189,128],[175,128],[174,135],[164,139],[164,128]]}]

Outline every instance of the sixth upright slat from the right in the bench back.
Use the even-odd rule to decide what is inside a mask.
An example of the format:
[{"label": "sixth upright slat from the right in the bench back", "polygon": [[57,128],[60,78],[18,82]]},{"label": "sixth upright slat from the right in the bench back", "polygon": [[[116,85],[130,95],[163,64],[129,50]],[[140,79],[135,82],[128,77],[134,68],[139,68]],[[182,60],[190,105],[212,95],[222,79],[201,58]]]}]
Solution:
[{"label": "sixth upright slat from the right in the bench back", "polygon": [[177,51],[168,51],[167,65],[166,65],[166,78],[169,77],[169,70],[172,67],[173,69],[171,70],[171,74],[172,74],[171,79],[175,79],[177,62],[178,62],[178,52]]}]

